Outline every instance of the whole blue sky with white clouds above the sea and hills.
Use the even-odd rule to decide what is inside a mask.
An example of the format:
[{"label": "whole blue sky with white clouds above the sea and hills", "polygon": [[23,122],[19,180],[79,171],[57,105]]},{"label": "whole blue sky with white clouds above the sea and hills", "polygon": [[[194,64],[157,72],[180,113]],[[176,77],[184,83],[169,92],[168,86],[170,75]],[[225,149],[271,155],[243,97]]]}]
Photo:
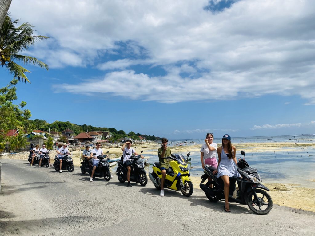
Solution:
[{"label": "whole blue sky with white clouds above the sea and hills", "polygon": [[[315,133],[313,1],[14,0],[31,119],[167,138]],[[1,86],[10,80],[0,70]]]}]

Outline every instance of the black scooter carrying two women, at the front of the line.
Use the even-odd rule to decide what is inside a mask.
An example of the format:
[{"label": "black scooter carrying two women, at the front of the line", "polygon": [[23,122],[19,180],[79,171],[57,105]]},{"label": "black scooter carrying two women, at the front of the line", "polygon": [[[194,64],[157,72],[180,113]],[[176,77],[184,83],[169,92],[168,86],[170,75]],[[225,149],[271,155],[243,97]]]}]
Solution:
[{"label": "black scooter carrying two women, at the front of the line", "polygon": [[[245,152],[241,151],[244,155],[243,160],[238,159],[238,172],[242,176],[230,177],[230,195],[229,202],[237,202],[239,204],[248,205],[249,209],[258,215],[265,215],[272,209],[272,199],[270,195],[262,190],[270,191],[266,186],[259,183],[261,177],[257,173],[255,168],[250,168],[245,160]],[[224,197],[224,182],[217,174],[213,175],[213,171],[216,170],[214,166],[205,165],[204,175],[201,177],[200,188],[206,193],[207,198],[211,202],[217,202],[219,200],[225,200]],[[203,184],[208,177],[212,178],[212,181],[208,181]],[[238,190],[235,190],[235,182],[238,183]],[[212,188],[210,186],[213,186]],[[236,191],[234,194],[233,192]],[[232,195],[233,194],[233,195]]]}]

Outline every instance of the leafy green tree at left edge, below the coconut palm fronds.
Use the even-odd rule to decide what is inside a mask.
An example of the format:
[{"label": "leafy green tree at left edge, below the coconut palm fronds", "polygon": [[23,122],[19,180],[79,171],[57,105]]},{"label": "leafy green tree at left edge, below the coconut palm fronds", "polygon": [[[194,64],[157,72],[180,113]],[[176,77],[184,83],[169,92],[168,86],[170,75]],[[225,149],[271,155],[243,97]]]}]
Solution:
[{"label": "leafy green tree at left edge, below the coconut palm fronds", "polygon": [[21,110],[26,106],[26,102],[22,101],[19,105],[13,104],[13,101],[17,99],[15,87],[17,82],[14,79],[6,87],[0,88],[0,133],[3,136],[9,129],[24,127],[24,122],[31,117],[29,110]]}]

